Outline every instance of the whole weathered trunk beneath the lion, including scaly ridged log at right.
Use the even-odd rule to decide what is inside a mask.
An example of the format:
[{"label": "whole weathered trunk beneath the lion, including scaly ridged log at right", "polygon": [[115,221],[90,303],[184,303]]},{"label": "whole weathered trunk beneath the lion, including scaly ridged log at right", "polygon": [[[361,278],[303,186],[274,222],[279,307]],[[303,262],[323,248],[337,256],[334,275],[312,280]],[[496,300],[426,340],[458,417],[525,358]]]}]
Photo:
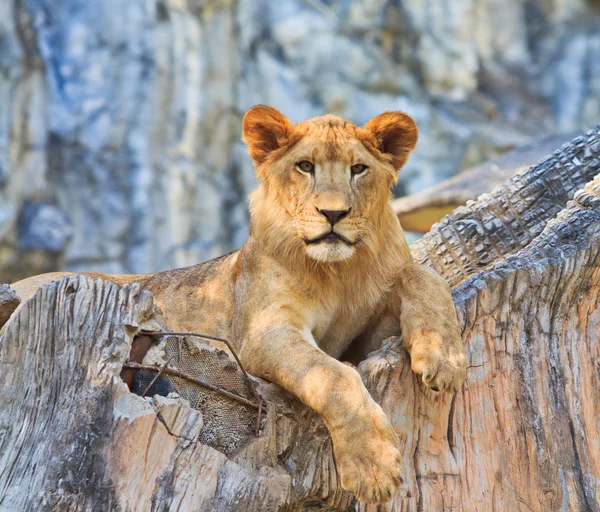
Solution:
[{"label": "whole weathered trunk beneath the lion, including scaly ridged log at right", "polygon": [[[453,285],[468,374],[454,396],[426,389],[395,339],[359,366],[404,454],[383,510],[600,510],[599,133],[413,247]],[[129,392],[133,337],[164,327],[148,292],[80,276],[24,305],[0,338],[0,510],[376,510],[273,384],[255,379],[260,436],[229,454],[196,441],[185,402]]]}]

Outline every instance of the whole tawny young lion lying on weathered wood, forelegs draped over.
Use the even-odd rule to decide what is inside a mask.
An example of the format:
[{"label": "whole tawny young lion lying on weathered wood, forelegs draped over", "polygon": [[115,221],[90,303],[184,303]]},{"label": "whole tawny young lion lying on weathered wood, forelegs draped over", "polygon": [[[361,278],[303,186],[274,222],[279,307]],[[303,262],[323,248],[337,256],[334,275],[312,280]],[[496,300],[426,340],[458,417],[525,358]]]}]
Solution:
[{"label": "whole tawny young lion lying on weathered wood, forelegs draped over", "polygon": [[[158,274],[87,275],[139,282],[175,330],[232,339],[250,372],[322,415],[342,486],[385,502],[400,484],[398,440],[358,373],[337,359],[360,360],[401,334],[427,386],[455,391],[465,378],[449,287],[413,264],[389,204],[417,127],[402,112],[362,128],[333,115],[293,125],[256,106],[243,139],[260,184],[241,250]],[[25,299],[61,275],[13,287]]]}]

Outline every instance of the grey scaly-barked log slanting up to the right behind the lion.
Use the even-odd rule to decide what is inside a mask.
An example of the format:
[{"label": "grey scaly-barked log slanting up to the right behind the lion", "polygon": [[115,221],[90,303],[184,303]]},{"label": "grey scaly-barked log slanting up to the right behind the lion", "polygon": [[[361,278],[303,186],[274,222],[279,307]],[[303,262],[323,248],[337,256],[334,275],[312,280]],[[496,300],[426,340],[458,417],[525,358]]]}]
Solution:
[{"label": "grey scaly-barked log slanting up to the right behind the lion", "polygon": [[457,208],[412,245],[413,257],[455,286],[529,245],[599,172],[597,126],[505,185]]}]

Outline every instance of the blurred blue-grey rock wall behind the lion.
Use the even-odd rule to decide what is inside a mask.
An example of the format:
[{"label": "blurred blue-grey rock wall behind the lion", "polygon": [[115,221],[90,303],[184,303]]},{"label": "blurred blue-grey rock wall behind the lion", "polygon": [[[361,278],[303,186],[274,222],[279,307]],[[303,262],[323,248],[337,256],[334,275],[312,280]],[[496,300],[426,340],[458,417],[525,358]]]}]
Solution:
[{"label": "blurred blue-grey rock wall behind the lion", "polygon": [[256,103],[410,113],[413,193],[600,122],[600,1],[0,0],[0,282],[240,247]]}]

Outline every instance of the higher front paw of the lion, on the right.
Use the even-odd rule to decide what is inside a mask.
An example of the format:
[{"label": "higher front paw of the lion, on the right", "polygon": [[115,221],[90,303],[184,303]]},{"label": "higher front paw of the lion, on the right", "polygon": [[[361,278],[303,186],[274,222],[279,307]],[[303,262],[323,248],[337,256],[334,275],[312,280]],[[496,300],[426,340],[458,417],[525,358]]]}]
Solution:
[{"label": "higher front paw of the lion, on the right", "polygon": [[467,375],[462,343],[444,347],[438,334],[429,335],[434,339],[429,343],[420,340],[419,348],[411,351],[412,370],[422,375],[423,382],[435,391],[458,391]]}]

